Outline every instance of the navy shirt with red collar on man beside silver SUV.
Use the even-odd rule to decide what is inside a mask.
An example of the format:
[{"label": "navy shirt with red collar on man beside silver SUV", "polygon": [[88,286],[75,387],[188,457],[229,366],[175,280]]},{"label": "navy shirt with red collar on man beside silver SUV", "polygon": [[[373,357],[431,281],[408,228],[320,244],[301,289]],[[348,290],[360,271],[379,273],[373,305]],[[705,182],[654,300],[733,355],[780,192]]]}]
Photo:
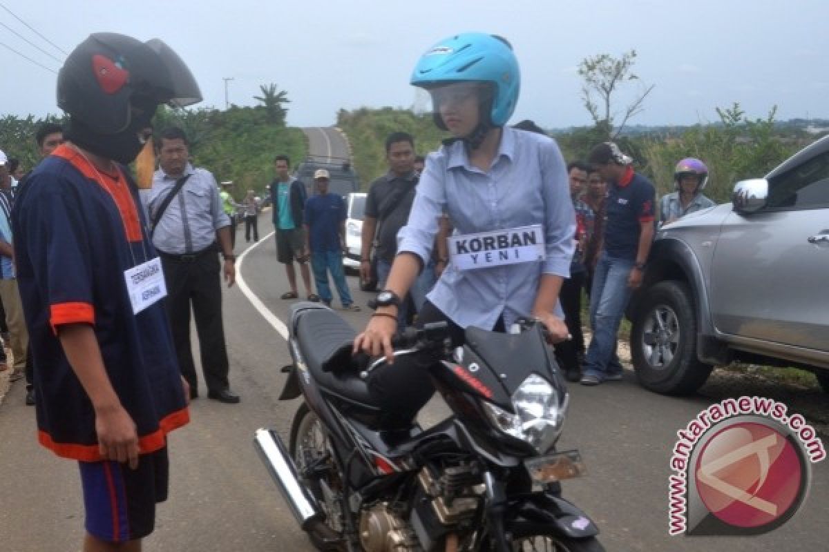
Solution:
[{"label": "navy shirt with red collar on man beside silver SUV", "polygon": [[623,177],[610,185],[604,223],[604,250],[609,257],[636,259],[640,223],[653,222],[655,197],[651,181],[629,166]]}]

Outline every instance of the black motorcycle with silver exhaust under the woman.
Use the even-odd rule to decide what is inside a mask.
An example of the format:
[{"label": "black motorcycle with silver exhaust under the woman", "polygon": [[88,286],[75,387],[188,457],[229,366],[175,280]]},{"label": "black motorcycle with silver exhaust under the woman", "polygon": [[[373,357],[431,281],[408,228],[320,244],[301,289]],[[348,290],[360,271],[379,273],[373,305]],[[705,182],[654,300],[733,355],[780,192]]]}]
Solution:
[{"label": "black motorcycle with silver exhaust under the woman", "polygon": [[[351,356],[356,334],[332,310],[294,305],[293,365],[279,398],[304,401],[290,452],[274,430],[258,430],[254,441],[313,544],[603,551],[593,521],[561,497],[559,482],[584,473],[584,464],[578,451],[554,449],[569,394],[542,328],[470,327],[467,344],[453,349],[445,324],[427,324],[395,340],[395,365],[387,366]],[[372,373],[403,358],[422,362],[453,412],[429,430],[414,420],[390,426],[390,412],[372,404]]]}]

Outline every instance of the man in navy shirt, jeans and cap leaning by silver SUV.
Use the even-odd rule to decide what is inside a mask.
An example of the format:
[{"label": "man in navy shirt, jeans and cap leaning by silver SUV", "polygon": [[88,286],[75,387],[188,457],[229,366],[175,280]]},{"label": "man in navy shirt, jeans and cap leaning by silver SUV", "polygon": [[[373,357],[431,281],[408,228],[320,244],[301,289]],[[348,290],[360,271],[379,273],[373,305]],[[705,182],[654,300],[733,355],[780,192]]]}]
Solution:
[{"label": "man in navy shirt, jeans and cap leaning by silver SUV", "polygon": [[633,160],[613,142],[595,146],[589,162],[608,183],[603,244],[590,291],[593,338],[581,377],[582,385],[594,386],[622,379],[616,335],[631,292],[642,285],[653,240],[656,192],[650,180],[633,171]]}]

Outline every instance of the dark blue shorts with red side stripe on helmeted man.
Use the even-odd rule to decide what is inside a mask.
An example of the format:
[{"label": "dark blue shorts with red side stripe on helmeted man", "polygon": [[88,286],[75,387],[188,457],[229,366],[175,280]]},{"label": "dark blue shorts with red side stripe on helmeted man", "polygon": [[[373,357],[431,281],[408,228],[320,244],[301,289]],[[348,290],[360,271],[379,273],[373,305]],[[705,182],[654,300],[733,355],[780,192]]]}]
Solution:
[{"label": "dark blue shorts with red side stripe on helmeted man", "polygon": [[138,468],[114,461],[80,462],[86,532],[99,540],[142,539],[155,527],[155,505],[167,500],[167,447],[142,454]]}]

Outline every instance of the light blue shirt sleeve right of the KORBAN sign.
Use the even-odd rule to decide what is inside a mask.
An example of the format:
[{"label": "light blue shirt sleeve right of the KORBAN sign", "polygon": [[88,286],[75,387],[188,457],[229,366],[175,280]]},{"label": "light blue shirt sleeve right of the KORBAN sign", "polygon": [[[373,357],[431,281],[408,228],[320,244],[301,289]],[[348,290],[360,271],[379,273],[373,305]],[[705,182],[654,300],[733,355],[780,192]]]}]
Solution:
[{"label": "light blue shirt sleeve right of the KORBAN sign", "polygon": [[567,168],[555,142],[541,146],[541,194],[545,206],[544,273],[570,277],[570,260],[575,252],[575,211],[570,199]]}]

